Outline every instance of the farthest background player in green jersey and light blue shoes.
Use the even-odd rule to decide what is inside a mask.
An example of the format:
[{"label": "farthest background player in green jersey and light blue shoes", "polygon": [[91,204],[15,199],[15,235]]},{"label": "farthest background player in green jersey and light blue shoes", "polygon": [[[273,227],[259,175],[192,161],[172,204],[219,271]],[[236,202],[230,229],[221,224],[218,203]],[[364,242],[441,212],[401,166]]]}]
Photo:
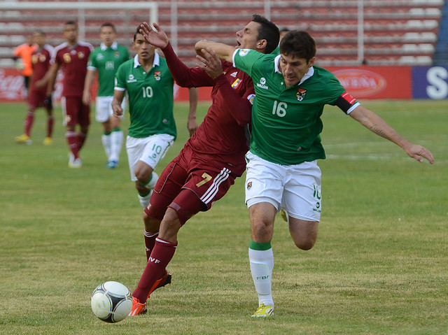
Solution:
[{"label": "farthest background player in green jersey and light blue shoes", "polygon": [[[104,133],[102,143],[107,156],[106,168],[115,169],[118,166],[121,146],[123,144],[123,131],[120,129],[120,117],[114,117],[112,111],[113,85],[115,73],[120,64],[129,60],[129,50],[115,41],[116,29],[113,24],[106,22],[99,29],[102,40],[99,48],[90,54],[87,64],[87,75],[83,92],[83,102],[91,102],[91,88],[95,73],[98,72],[98,92],[95,104],[95,119],[102,122]],[[126,100],[122,107],[125,109]]]}]

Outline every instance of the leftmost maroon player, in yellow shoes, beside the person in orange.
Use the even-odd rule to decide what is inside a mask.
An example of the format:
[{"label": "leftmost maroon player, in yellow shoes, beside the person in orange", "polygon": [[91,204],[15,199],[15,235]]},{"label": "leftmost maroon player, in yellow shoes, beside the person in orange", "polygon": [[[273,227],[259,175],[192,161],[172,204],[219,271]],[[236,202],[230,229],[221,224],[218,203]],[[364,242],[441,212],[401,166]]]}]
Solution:
[{"label": "leftmost maroon player, in yellow shoes, beside the person in orange", "polygon": [[34,31],[33,41],[38,45],[38,49],[34,50],[31,54],[31,66],[33,73],[31,74],[31,80],[28,93],[28,113],[25,117],[23,134],[16,137],[17,143],[31,144],[31,127],[34,122],[34,112],[39,107],[45,107],[47,111],[47,134],[43,140],[44,145],[50,145],[52,143],[52,131],[53,131],[53,116],[52,116],[52,101],[51,96],[47,97],[47,87],[36,87],[36,81],[45,76],[50,68],[50,59],[52,52],[55,48],[45,43],[45,33],[43,31]]}]

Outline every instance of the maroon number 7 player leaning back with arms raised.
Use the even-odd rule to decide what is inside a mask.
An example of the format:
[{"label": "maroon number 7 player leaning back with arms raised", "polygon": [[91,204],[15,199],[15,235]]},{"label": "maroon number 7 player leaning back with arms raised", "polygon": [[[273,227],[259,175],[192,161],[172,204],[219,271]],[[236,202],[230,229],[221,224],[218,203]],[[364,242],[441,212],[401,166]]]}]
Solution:
[{"label": "maroon number 7 player leaning back with arms raised", "polygon": [[[165,268],[174,256],[182,225],[196,213],[208,211],[244,172],[246,129],[255,97],[246,73],[205,50],[205,58],[200,60],[206,66],[188,68],[176,57],[165,32],[157,24],[154,27],[157,31],[145,22],[141,32],[146,41],[161,48],[176,83],[183,87],[212,86],[212,104],[196,133],[162,172],[144,211],[148,262],[132,293],[130,315],[145,313],[149,294],[171,283]],[[278,43],[279,29],[260,15],[253,15],[253,20],[237,31],[241,48],[269,53]]]}]

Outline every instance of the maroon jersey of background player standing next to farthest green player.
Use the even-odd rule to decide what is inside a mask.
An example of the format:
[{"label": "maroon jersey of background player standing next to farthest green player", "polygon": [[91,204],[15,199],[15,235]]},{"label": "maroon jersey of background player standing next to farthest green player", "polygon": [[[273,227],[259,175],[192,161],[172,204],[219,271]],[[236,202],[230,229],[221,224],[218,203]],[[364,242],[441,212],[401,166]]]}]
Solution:
[{"label": "maroon jersey of background player standing next to farthest green player", "polygon": [[92,51],[93,46],[90,43],[80,41],[73,46],[64,42],[55,48],[55,57],[52,59],[52,63],[59,64],[64,71],[62,96],[83,96],[87,61]]}]

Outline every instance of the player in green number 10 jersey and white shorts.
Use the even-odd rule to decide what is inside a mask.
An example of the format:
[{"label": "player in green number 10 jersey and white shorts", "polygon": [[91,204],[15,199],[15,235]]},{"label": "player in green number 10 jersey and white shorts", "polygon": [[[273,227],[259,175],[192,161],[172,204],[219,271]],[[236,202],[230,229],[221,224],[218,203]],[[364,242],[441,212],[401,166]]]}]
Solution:
[{"label": "player in green number 10 jersey and white shorts", "polygon": [[[155,52],[153,45],[145,41],[139,29],[132,43],[137,55],[121,64],[116,73],[112,108],[114,115],[123,115],[121,103],[127,91],[131,118],[126,138],[127,159],[131,180],[135,181],[139,192],[140,204],[146,208],[159,178],[154,169],[174,143],[177,132],[173,115],[174,79],[166,60]],[[195,101],[192,101],[192,97]],[[190,105],[197,105],[197,94],[190,94]],[[195,108],[190,108],[190,131],[197,129],[195,114]]]}]

